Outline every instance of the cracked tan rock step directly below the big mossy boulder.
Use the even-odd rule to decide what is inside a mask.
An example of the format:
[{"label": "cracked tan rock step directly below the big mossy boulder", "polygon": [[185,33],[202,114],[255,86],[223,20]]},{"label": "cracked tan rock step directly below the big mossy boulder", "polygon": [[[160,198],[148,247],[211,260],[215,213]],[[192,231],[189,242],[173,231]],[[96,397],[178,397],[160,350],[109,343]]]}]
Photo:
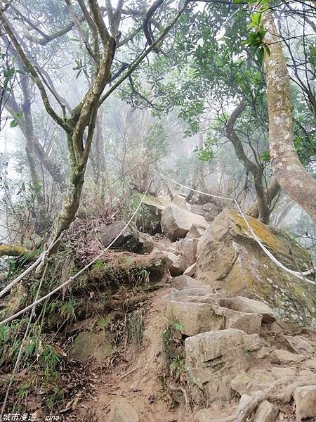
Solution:
[{"label": "cracked tan rock step directly below the big mossy boulder", "polygon": [[[246,334],[260,333],[262,322],[272,323],[276,316],[265,303],[243,298],[225,298],[188,276],[173,280],[173,291],[165,298],[171,324],[181,324],[181,333],[197,335],[206,331],[237,328]],[[190,287],[196,286],[196,287]]]}]

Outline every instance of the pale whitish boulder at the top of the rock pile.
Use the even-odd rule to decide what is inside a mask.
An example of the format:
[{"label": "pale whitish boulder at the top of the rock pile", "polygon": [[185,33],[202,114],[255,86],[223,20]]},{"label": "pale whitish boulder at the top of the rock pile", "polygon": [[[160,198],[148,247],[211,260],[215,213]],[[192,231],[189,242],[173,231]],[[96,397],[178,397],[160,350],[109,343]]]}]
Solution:
[{"label": "pale whitish boulder at the top of the rock pile", "polygon": [[192,224],[202,224],[208,226],[206,219],[202,215],[193,214],[177,207],[169,205],[162,211],[162,232],[173,241],[184,238],[190,231]]}]

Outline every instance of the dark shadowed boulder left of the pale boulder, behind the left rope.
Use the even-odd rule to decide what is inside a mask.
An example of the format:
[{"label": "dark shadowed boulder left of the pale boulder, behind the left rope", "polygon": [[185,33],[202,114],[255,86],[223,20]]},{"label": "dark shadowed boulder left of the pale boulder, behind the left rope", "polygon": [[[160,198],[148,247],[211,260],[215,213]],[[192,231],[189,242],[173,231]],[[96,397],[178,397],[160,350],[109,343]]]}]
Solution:
[{"label": "dark shadowed boulder left of the pale boulder, behind the left rope", "polygon": [[[129,224],[125,229],[126,222],[114,222],[98,233],[98,240],[105,248],[109,246],[114,239],[111,248],[120,250],[129,250],[136,253],[150,253],[154,250],[154,241],[145,233],[140,233],[133,224]],[[120,234],[120,232],[122,233]]]}]

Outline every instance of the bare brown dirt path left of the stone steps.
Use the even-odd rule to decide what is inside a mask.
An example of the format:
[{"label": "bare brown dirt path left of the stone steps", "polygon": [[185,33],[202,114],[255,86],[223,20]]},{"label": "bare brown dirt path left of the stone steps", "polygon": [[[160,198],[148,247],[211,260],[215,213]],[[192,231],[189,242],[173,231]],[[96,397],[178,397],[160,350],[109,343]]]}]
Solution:
[{"label": "bare brown dirt path left of the stone steps", "polygon": [[93,409],[95,421],[110,421],[110,409],[119,399],[133,406],[140,422],[192,421],[185,407],[169,409],[159,381],[163,373],[161,338],[166,327],[166,305],[162,298],[170,291],[170,288],[157,291],[148,306],[143,346],[138,356],[128,362],[122,359],[111,373],[101,378],[96,397],[84,403],[84,408]]}]

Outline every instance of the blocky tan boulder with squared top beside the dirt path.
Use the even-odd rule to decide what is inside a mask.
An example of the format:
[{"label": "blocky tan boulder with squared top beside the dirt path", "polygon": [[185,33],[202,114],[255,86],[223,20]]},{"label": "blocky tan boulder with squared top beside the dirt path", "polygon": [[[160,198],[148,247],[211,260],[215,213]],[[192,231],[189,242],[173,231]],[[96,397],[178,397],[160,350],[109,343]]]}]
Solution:
[{"label": "blocky tan boulder with squared top beside the dirt path", "polygon": [[267,350],[257,334],[237,329],[211,331],[185,339],[190,380],[210,402],[230,400],[230,382],[238,373],[258,364]]}]

